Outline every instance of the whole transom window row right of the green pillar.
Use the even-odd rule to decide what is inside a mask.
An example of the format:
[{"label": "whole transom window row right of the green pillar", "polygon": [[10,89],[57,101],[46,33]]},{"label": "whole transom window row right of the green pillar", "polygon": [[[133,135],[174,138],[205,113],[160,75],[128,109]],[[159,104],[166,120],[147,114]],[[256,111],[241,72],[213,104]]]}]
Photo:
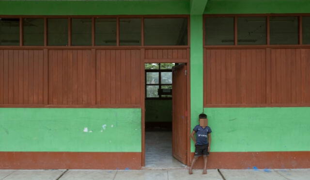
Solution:
[{"label": "whole transom window row right of the green pillar", "polygon": [[204,44],[307,45],[310,16],[205,16]]}]

